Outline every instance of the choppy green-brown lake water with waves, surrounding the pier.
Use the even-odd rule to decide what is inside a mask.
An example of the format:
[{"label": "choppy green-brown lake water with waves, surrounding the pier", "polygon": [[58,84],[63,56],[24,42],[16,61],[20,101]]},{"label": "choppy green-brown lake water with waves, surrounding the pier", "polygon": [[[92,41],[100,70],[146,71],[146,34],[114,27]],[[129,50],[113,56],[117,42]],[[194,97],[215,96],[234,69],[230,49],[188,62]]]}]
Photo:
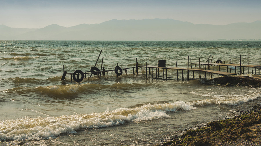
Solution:
[{"label": "choppy green-brown lake water with waves, surrounding the pier", "polygon": [[[260,100],[260,88],[204,85],[113,71],[77,84],[67,72],[89,71],[102,50],[105,70],[119,64],[187,67],[221,59],[260,65],[261,42],[0,41],[0,144],[153,145],[186,128],[232,116]],[[225,68],[223,68],[225,71]],[[186,76],[186,73],[185,73]],[[181,77],[180,77],[181,78]],[[209,76],[208,76],[209,78]],[[33,140],[33,141],[30,141]]]}]

